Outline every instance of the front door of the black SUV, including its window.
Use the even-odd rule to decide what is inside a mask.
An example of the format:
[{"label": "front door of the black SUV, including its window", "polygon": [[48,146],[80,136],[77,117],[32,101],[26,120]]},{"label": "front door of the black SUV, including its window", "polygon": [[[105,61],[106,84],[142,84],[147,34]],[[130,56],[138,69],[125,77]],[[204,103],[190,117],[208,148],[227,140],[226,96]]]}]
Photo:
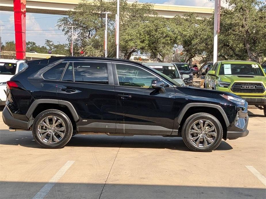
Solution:
[{"label": "front door of the black SUV, including its window", "polygon": [[117,71],[118,82],[123,85],[124,81],[127,86],[115,86],[116,132],[171,134],[175,117],[175,89],[169,87],[166,88],[166,93],[155,92],[150,86],[152,79],[159,79],[158,77],[141,68],[130,71],[131,76],[126,69]]}]

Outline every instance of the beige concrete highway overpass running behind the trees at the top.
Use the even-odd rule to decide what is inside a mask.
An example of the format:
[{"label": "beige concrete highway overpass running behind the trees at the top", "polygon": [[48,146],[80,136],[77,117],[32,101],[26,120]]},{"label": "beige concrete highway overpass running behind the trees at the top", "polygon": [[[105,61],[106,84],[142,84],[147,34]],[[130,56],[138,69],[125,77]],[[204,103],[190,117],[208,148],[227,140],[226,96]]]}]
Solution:
[{"label": "beige concrete highway overpass running behind the trees at the top", "polygon": [[[91,0],[88,1],[93,2]],[[26,12],[64,15],[66,11],[73,10],[79,2],[80,0],[26,0]],[[13,0],[0,1],[0,10],[13,11]],[[154,4],[154,10],[165,18],[172,18],[175,15],[183,15],[189,12],[195,12],[202,17],[210,17],[214,12],[213,7],[167,4]]]}]

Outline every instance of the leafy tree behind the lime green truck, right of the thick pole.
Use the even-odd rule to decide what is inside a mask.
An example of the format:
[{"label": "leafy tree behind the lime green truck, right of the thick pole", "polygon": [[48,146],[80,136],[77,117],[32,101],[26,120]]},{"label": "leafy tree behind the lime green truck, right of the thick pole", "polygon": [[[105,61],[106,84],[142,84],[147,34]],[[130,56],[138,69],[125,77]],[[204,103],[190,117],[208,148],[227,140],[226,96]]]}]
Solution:
[{"label": "leafy tree behind the lime green truck, right of the thick pole", "polygon": [[226,0],[221,10],[219,57],[262,62],[266,56],[266,7],[260,0]]}]

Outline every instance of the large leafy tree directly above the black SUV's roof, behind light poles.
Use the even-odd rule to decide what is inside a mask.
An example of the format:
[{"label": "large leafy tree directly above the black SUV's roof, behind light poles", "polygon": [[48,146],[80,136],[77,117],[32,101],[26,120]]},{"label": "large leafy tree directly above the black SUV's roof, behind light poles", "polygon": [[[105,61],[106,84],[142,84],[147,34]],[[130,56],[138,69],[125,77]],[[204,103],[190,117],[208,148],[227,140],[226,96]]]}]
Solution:
[{"label": "large leafy tree directly above the black SUV's roof, behind light poles", "polygon": [[[114,57],[116,54],[116,3],[116,0],[81,1],[74,11],[68,11],[68,16],[58,20],[58,28],[69,35],[68,41],[70,41],[71,29],[67,26],[76,26],[74,43],[77,48],[85,50],[87,56],[104,56],[105,15],[102,12],[112,12],[108,15],[107,48],[108,57]],[[150,20],[150,15],[156,17],[152,4],[127,3],[126,0],[120,0],[120,56],[122,58],[129,59],[132,53],[141,49],[147,50],[143,46],[143,37],[146,31],[143,23]]]}]

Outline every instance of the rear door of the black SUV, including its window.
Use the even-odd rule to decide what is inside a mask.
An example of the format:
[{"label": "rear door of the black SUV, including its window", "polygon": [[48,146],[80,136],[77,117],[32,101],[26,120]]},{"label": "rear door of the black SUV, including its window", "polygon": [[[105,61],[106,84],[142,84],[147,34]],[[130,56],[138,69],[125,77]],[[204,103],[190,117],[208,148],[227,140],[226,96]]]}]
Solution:
[{"label": "rear door of the black SUV, including its window", "polygon": [[[104,66],[97,63],[74,62],[73,65],[74,67],[68,65],[64,73],[62,80],[65,79],[66,81],[58,83],[58,98],[73,105],[80,117],[77,122],[80,131],[115,132],[116,103],[114,85],[109,85],[108,79],[102,74],[107,69],[107,63]],[[74,78],[71,77],[73,68]],[[99,73],[97,72],[98,69]],[[111,70],[111,68],[108,70]],[[74,82],[72,82],[73,79]],[[105,128],[103,128],[104,126]]]}]

